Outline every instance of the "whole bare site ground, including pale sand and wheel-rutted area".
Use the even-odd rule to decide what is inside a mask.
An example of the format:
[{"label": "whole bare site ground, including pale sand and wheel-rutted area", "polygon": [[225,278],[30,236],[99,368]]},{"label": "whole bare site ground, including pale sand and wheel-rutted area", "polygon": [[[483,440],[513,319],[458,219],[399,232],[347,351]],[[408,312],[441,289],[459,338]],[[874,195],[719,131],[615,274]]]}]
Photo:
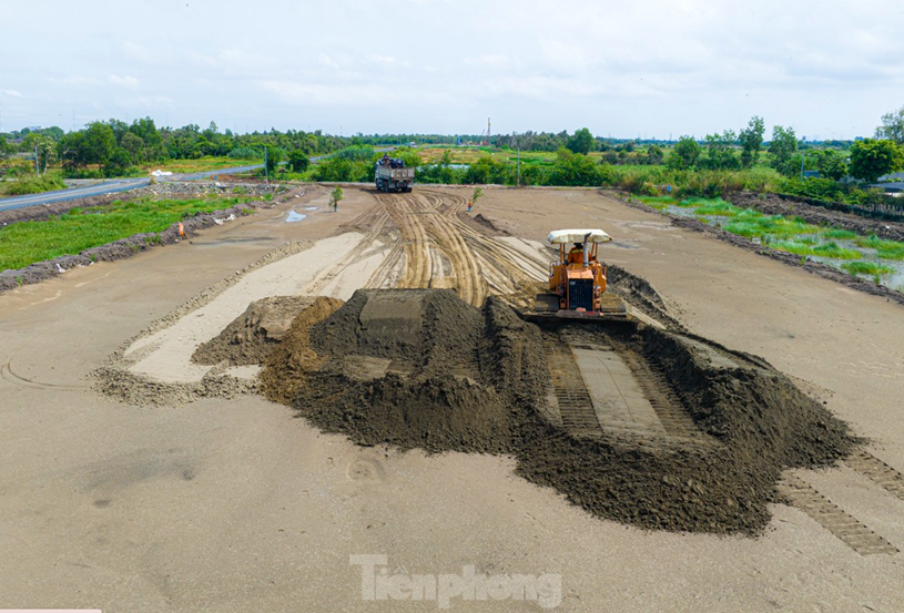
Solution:
[{"label": "whole bare site ground, including pale sand and wheel-rutted area", "polygon": [[[189,241],[0,294],[0,607],[436,606],[362,602],[349,555],[376,553],[409,574],[558,574],[562,611],[904,610],[901,305],[597,191],[485,192],[468,215],[469,188],[346,187],[334,214],[328,188],[305,187]],[[292,210],[307,217],[286,223]],[[246,394],[241,381],[257,367],[193,359],[251,303],[275,296],[434,287],[474,306],[494,294],[527,304],[547,266],[537,245],[565,227],[606,229],[606,260],[652,284],[672,318],[764,358],[865,446],[831,469],[788,471],[779,489],[790,504],[770,505],[756,537],[649,531],[517,477],[505,454],[356,446]],[[629,354],[544,343],[567,428],[710,445]],[[597,381],[577,399],[576,372]],[[613,387],[620,400],[607,402]]]}]

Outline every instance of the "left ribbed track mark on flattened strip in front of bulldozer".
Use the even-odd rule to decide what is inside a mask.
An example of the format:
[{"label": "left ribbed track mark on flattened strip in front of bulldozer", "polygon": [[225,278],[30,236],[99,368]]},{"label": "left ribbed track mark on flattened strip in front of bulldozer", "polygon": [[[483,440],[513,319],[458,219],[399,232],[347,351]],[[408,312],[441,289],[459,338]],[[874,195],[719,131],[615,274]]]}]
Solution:
[{"label": "left ribbed track mark on flattened strip in front of bulldozer", "polygon": [[571,435],[602,436],[602,427],[570,347],[561,346],[558,339],[549,336],[544,339],[544,345],[562,426]]}]

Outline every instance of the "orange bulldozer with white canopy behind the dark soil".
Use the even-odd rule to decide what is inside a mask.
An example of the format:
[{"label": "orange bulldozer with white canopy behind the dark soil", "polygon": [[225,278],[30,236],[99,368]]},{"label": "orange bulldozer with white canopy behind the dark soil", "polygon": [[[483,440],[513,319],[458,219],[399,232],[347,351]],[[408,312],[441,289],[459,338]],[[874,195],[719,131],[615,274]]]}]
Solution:
[{"label": "orange bulldozer with white canopy behind the dark soil", "polygon": [[557,229],[547,239],[558,248],[558,258],[549,265],[549,292],[537,295],[534,310],[525,313],[528,319],[629,319],[624,302],[606,292],[606,263],[598,259],[598,249],[612,239],[608,234],[599,228]]}]

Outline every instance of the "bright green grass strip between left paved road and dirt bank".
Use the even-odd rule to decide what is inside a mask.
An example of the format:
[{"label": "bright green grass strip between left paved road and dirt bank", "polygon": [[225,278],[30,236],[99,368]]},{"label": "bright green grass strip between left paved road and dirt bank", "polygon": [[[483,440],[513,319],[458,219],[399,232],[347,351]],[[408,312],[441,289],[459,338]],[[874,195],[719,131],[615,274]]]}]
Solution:
[{"label": "bright green grass strip between left paved road and dirt bank", "polygon": [[136,198],[109,206],[73,208],[41,222],[22,222],[0,228],[0,270],[16,269],[126,238],[162,232],[195,213],[210,213],[244,204],[248,197],[194,200]]}]

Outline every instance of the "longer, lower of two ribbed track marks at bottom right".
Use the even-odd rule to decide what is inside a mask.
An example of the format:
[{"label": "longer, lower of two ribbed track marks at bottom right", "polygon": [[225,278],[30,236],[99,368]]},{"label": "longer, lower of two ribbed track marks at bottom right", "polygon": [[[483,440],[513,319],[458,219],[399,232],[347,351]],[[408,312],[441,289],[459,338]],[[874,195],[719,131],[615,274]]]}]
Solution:
[{"label": "longer, lower of two ribbed track marks at bottom right", "polygon": [[793,474],[785,476],[779,481],[778,489],[791,504],[861,555],[882,553],[893,555],[898,552],[896,546],[825,498],[803,479]]}]

